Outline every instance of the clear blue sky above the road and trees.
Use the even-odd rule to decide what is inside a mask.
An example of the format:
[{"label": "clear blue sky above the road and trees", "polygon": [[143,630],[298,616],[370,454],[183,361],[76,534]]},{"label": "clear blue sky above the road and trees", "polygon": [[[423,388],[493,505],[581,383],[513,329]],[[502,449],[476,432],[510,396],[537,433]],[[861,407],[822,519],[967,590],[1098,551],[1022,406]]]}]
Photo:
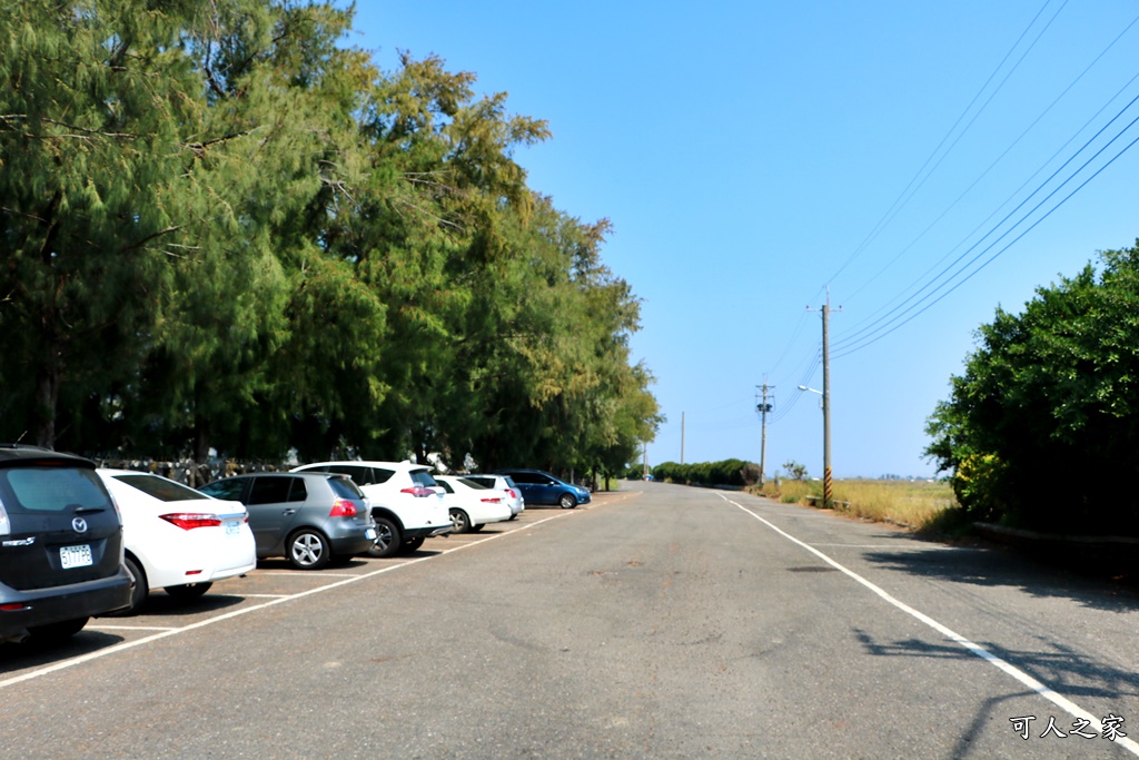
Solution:
[{"label": "clear blue sky above the road and trees", "polygon": [[357,11],[382,68],[434,54],[549,122],[516,160],[560,211],[613,221],[667,417],[650,465],[759,461],[767,383],[768,474],[821,475],[820,397],[797,386],[822,389],[829,292],[835,476],[932,475],[925,420],[977,327],[1139,238],[1134,0]]}]

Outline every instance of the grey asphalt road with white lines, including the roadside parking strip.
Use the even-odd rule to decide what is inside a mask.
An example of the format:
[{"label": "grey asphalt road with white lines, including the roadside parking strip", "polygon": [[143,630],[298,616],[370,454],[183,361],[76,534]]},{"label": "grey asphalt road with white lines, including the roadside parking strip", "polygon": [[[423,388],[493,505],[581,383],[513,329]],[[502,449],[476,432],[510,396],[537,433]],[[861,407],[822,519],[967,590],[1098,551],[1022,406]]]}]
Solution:
[{"label": "grey asphalt road with white lines, including the roadside parking strip", "polygon": [[1133,593],[740,493],[622,489],[0,646],[0,755],[1139,755]]}]

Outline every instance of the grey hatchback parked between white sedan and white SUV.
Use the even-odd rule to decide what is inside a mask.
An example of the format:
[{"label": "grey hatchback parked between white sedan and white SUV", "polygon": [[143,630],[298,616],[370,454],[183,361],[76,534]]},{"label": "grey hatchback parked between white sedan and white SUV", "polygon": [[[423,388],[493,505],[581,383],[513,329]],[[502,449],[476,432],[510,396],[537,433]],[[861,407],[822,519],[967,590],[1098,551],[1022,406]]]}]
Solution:
[{"label": "grey hatchback parked between white sedan and white SUV", "polygon": [[297,570],[364,554],[376,540],[363,493],[346,475],[256,473],[202,487],[249,510],[257,557],[284,556]]}]

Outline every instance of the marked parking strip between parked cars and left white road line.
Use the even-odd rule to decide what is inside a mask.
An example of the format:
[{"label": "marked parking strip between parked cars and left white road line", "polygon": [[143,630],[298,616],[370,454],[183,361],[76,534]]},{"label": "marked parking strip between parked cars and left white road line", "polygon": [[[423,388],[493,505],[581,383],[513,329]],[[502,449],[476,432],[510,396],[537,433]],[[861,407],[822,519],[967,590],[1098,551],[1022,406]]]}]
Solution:
[{"label": "marked parking strip between parked cars and left white road line", "polygon": [[405,565],[429,562],[445,554],[503,539],[516,531],[540,529],[544,523],[568,518],[605,504],[607,497],[618,495],[598,496],[601,497],[598,501],[576,509],[527,507],[509,522],[489,524],[478,532],[427,539],[418,550],[386,559],[360,556],[347,564],[318,571],[294,570],[280,557],[261,559],[256,570],[244,578],[218,581],[204,597],[189,603],[156,591],[147,599],[141,614],[92,619],[71,641],[62,646],[40,649],[14,644],[0,645],[0,688],[124,648],[179,636],[236,616],[256,614],[292,599],[357,583]]}]

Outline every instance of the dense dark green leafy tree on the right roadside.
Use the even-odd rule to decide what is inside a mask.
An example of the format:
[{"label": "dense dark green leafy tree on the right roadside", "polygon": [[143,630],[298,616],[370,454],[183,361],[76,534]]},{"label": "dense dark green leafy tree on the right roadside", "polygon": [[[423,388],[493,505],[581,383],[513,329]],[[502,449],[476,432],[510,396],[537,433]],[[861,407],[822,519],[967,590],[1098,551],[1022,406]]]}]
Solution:
[{"label": "dense dark green leafy tree on the right roadside", "polygon": [[[972,514],[1066,533],[1139,531],[1139,248],[1101,254],[982,326],[926,453]],[[1059,489],[1064,473],[1079,488]]]}]

